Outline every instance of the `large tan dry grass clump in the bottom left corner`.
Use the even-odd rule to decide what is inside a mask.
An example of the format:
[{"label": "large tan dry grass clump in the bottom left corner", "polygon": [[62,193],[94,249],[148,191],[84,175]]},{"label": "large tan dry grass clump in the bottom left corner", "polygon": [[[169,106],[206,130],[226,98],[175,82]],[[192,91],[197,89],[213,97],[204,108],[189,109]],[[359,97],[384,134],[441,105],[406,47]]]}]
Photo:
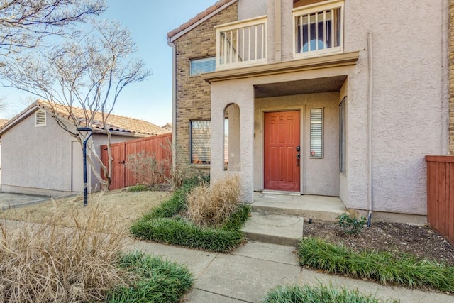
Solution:
[{"label": "large tan dry grass clump in the bottom left corner", "polygon": [[1,303],[101,302],[128,282],[116,266],[124,240],[116,220],[96,207],[72,219],[77,228],[0,223]]}]

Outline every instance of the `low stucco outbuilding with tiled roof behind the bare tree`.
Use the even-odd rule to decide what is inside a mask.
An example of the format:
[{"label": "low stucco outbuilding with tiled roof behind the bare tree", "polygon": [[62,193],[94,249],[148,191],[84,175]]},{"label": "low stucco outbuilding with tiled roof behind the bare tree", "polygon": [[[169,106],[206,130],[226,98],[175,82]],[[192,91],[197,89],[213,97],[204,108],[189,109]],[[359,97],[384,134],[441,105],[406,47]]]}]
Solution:
[{"label": "low stucco outbuilding with tiled roof behind the bare tree", "polygon": [[[59,195],[83,190],[81,143],[57,124],[55,114],[75,131],[65,107],[55,105],[52,109],[47,101],[40,100],[0,127],[2,191]],[[85,121],[82,109],[73,107],[72,114],[75,119]],[[107,143],[106,134],[102,131],[101,114],[97,113],[94,119],[92,138],[100,155],[99,147]],[[112,114],[107,125],[112,134],[111,143],[168,133],[153,123]],[[100,189],[92,172],[89,186],[92,191]]]}]

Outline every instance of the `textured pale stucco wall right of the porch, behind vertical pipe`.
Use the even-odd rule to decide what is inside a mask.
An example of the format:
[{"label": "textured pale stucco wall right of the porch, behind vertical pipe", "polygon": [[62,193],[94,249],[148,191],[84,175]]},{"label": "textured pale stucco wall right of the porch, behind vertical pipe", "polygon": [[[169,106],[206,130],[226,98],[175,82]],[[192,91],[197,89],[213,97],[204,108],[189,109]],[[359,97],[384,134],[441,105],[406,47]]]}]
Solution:
[{"label": "textured pale stucco wall right of the porch, behind vertical pipe", "polygon": [[[373,41],[372,201],[377,211],[426,214],[424,155],[443,154],[447,28],[445,0],[345,1],[345,50]],[[348,206],[364,209],[367,187],[367,53],[348,96]],[[364,148],[365,147],[365,148]],[[359,149],[355,150],[355,148]],[[364,155],[362,155],[364,153]],[[358,188],[355,188],[359,186]]]}]

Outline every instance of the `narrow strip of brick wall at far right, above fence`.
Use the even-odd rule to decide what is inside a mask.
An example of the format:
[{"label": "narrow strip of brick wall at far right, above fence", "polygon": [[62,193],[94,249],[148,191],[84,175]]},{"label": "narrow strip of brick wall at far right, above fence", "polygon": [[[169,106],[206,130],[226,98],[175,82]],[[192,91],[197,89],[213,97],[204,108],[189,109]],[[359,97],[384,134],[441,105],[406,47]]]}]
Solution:
[{"label": "narrow strip of brick wall at far right, above fence", "polygon": [[454,0],[449,0],[449,153],[454,155]]}]

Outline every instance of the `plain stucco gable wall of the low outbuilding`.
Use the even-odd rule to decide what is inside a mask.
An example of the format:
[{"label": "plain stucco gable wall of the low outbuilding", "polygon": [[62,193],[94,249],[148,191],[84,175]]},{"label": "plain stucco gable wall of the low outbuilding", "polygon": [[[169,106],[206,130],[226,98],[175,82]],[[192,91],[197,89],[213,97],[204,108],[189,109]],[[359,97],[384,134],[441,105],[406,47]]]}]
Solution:
[{"label": "plain stucco gable wall of the low outbuilding", "polygon": [[13,126],[1,136],[2,188],[70,192],[71,141],[49,114],[46,126],[35,127],[34,114]]}]

